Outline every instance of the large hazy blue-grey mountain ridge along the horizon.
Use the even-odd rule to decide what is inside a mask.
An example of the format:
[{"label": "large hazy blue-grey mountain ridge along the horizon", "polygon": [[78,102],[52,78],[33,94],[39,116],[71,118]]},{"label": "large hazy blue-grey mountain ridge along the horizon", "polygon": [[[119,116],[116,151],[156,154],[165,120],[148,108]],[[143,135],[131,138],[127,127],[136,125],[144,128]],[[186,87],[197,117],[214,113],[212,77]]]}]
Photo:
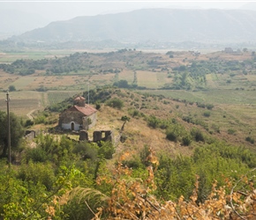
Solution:
[{"label": "large hazy blue-grey mountain ridge along the horizon", "polygon": [[254,42],[255,24],[256,11],[143,9],[56,21],[12,40]]}]

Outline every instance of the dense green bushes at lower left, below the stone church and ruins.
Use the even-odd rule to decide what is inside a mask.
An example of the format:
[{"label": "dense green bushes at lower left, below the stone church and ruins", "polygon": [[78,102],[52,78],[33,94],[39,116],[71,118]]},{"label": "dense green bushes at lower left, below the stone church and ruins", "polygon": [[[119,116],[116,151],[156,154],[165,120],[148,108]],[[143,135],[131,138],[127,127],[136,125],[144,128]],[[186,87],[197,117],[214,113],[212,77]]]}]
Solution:
[{"label": "dense green bushes at lower left, below the stone church and ruins", "polygon": [[[49,205],[72,187],[94,187],[102,165],[112,158],[112,143],[74,143],[66,136],[38,136],[36,147],[22,150],[20,165],[1,160],[0,219],[41,219],[50,216]],[[6,190],[8,189],[8,190]],[[75,210],[71,202],[56,219],[93,216],[87,209]],[[78,205],[79,207],[79,205]],[[77,207],[77,208],[78,208]]]}]

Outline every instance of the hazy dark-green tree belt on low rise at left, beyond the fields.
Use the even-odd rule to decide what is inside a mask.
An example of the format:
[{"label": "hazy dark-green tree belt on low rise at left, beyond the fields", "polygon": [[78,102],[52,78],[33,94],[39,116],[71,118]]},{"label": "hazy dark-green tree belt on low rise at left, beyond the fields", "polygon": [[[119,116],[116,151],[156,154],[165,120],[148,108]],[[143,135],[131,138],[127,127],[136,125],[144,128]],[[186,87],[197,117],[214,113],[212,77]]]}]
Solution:
[{"label": "hazy dark-green tree belt on low rise at left, beyond the fields", "polygon": [[[128,51],[132,51],[132,49],[121,49],[117,52],[95,54],[77,52],[75,54],[60,58],[55,56],[54,59],[19,59],[11,64],[0,64],[0,69],[3,69],[11,74],[19,74],[22,76],[34,74],[35,70],[45,70],[46,75],[62,75],[69,74],[70,72],[78,72],[79,70],[89,71],[91,69],[94,69],[99,73],[119,73],[122,69],[119,70],[117,68],[109,68],[109,59],[113,59],[114,62],[117,60],[117,58],[120,59],[120,54],[125,54],[125,52]],[[138,55],[140,54],[138,53]],[[107,59],[104,61],[108,62],[106,68],[102,69],[102,62],[99,65],[94,64],[93,56],[98,56],[100,59],[102,59],[102,57]],[[125,55],[122,56],[125,57]]]}]

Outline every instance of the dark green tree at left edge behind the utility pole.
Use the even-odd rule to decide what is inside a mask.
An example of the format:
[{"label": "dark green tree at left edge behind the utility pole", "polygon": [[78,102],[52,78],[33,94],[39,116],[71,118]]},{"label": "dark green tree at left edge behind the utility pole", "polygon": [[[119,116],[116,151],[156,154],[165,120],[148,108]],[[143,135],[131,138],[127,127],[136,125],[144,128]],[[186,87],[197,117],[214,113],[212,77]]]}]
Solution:
[{"label": "dark green tree at left edge behind the utility pole", "polygon": [[[10,126],[11,126],[11,150],[17,149],[19,141],[24,135],[21,121],[15,114],[10,114]],[[0,111],[0,157],[6,157],[8,148],[8,130],[7,128],[7,114]]]}]

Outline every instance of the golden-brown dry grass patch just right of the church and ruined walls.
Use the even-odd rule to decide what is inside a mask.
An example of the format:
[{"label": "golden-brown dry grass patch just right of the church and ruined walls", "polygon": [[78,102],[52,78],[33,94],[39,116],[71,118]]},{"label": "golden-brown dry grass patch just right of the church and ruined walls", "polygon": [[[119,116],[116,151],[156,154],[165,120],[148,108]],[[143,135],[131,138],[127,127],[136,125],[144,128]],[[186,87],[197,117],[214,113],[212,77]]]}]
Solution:
[{"label": "golden-brown dry grass patch just right of the church and ruined walls", "polygon": [[[97,124],[89,131],[89,136],[92,136],[93,130],[111,129],[117,137],[124,123],[124,121],[121,121],[121,117],[124,115],[129,116],[126,111],[126,107],[123,110],[117,110],[109,106],[102,106],[98,112]],[[147,113],[149,114],[149,111]],[[153,110],[151,114],[154,113],[158,113],[162,117],[167,117],[168,115],[163,111],[157,112]],[[165,138],[164,130],[149,128],[143,118],[131,118],[130,121],[125,123],[123,134],[127,139],[124,143],[118,144],[115,157],[119,157],[119,154],[124,153],[124,151],[132,152],[132,157],[132,155],[138,154],[145,145],[151,147],[156,152],[163,151],[169,154],[170,157],[177,156],[179,153],[183,155],[191,155],[192,153],[192,148],[181,146],[179,143],[169,142]]]}]

